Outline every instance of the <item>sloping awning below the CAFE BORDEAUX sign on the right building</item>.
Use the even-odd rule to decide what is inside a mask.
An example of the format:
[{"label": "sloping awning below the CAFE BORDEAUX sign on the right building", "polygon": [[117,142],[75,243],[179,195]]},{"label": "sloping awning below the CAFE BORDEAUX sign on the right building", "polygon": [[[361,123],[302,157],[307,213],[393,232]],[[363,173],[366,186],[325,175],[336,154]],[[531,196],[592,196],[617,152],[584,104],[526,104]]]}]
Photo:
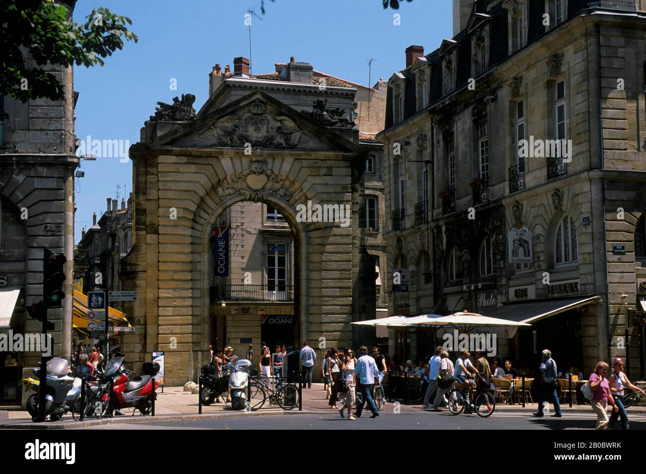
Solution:
[{"label": "sloping awning below the CAFE BORDEAUX sign on the right building", "polygon": [[483,311],[483,316],[506,319],[517,323],[535,323],[539,319],[549,318],[556,314],[593,303],[598,296],[576,296],[573,298],[543,299],[509,303],[499,308]]}]

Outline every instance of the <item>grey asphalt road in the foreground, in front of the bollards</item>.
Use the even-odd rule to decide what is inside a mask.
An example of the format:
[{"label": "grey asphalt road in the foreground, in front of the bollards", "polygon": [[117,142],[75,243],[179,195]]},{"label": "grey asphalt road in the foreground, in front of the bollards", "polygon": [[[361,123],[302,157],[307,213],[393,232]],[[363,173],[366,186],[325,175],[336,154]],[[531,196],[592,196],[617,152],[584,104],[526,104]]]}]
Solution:
[{"label": "grey asphalt road in the foreground, in front of the bollards", "polygon": [[[494,413],[489,418],[477,415],[454,416],[443,413],[382,413],[370,419],[370,412],[356,421],[330,415],[249,415],[201,420],[159,421],[136,424],[110,424],[83,429],[592,429],[593,414],[564,415],[563,418],[534,418],[519,413]],[[620,429],[619,424],[616,429]],[[630,429],[646,429],[646,415],[632,415]]]}]

